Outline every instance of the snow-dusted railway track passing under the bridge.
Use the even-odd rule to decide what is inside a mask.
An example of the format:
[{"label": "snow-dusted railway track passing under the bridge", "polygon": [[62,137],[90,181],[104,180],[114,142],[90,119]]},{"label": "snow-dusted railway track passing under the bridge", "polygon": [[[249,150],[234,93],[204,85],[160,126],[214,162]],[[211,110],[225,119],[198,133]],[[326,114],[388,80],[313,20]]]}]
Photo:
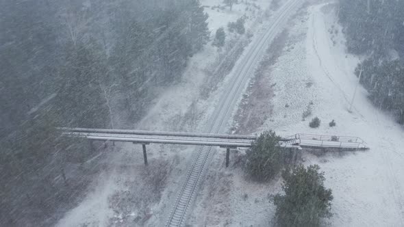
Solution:
[{"label": "snow-dusted railway track passing under the bridge", "polygon": [[[251,43],[253,46],[248,49],[247,55],[239,60],[240,63],[232,71],[234,75],[227,84],[223,98],[220,99],[220,103],[207,121],[205,133],[224,133],[226,131],[227,125],[224,123],[231,118],[232,110],[236,107],[242,91],[247,85],[247,81],[253,75],[255,66],[260,62],[269,42],[275,38],[277,31],[287,21],[290,11],[296,7],[298,2],[299,0],[290,0],[282,5],[273,20],[266,23],[268,26],[266,32],[260,34],[260,38]],[[205,165],[209,160],[211,151],[211,146],[202,146],[197,151],[187,172],[186,180],[179,189],[177,200],[168,217],[166,226],[174,227],[184,224],[186,212],[192,202],[197,185],[201,181],[201,176],[203,176],[203,171],[205,170]]]}]

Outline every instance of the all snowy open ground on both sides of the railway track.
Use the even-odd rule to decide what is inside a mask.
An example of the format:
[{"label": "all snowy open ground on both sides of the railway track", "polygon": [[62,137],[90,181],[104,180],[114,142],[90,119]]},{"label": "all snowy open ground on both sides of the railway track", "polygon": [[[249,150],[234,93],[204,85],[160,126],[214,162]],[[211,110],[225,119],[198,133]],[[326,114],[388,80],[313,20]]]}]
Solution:
[{"label": "all snowy open ground on both sides of the railway track", "polygon": [[[226,27],[229,21],[236,21],[244,12],[250,16],[247,30],[251,29],[253,34],[259,31],[257,21],[264,16],[270,1],[251,2],[261,10],[246,11],[246,5],[242,4],[234,5],[232,11],[218,10],[212,6],[222,1],[201,1],[207,6],[205,12],[210,16],[212,34],[218,27]],[[335,10],[334,3],[312,3],[290,21],[283,54],[267,75],[268,83],[276,84],[268,86],[275,95],[268,100],[272,109],[264,110],[272,114],[256,132],[273,129],[285,136],[313,133],[361,137],[370,150],[323,156],[303,152],[303,163],[320,165],[325,171],[326,186],[333,190],[334,215],[329,223],[331,226],[404,226],[403,127],[375,109],[360,85],[353,109],[349,111],[357,83],[353,70],[359,58],[346,53]],[[199,88],[205,82],[205,68],[217,55],[216,47],[210,44],[194,55],[184,72],[186,79],[164,91],[147,116],[133,127],[199,131],[200,123],[210,115],[220,94],[215,91],[205,100],[199,97]],[[302,121],[303,111],[310,102],[313,103],[312,116]],[[318,129],[308,126],[314,116],[321,120]],[[336,120],[337,125],[333,128],[328,126],[331,120]],[[142,163],[140,146],[123,144],[116,148],[118,152],[110,155],[110,168],[101,173],[94,181],[94,189],[81,204],[66,213],[59,226],[165,224],[166,211],[171,209],[177,187],[182,183],[181,176],[185,175],[195,149],[160,145],[151,145],[148,149],[149,169]],[[281,191],[281,179],[267,184],[248,181],[240,168],[224,168],[224,156],[222,152],[213,159],[188,224],[267,226],[275,213],[270,198]],[[236,161],[236,157],[232,153],[231,162]],[[150,179],[162,181],[161,188],[153,188]],[[137,200],[131,201],[131,196]],[[150,196],[160,197],[160,200],[149,200]]]}]

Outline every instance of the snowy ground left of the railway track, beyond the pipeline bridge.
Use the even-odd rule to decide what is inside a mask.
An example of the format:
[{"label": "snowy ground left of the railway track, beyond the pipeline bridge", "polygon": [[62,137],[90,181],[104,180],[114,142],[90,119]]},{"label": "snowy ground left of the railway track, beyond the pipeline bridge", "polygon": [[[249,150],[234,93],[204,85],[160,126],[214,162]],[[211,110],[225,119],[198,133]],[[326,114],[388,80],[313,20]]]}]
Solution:
[{"label": "snowy ground left of the railway track, beyond the pipeline bridge", "polygon": [[[225,6],[221,0],[201,0],[201,5],[205,7],[204,11],[209,16],[207,22],[212,40],[216,29],[225,27],[226,42],[230,42],[229,40],[231,39],[236,41],[235,36],[239,35],[227,31],[227,24],[236,22],[238,18],[244,15],[248,16],[245,22],[246,31],[252,34],[260,31],[260,25],[262,25],[260,22],[264,18],[264,12],[270,5],[270,1],[257,0],[251,1],[251,3],[250,1],[248,2],[249,4],[246,5],[243,1],[240,1],[240,3],[233,5],[232,10],[229,10],[229,7]],[[217,6],[220,6],[220,8],[217,8]],[[210,116],[210,111],[213,111],[220,91],[214,92],[210,98],[203,101],[200,100],[200,90],[208,76],[206,73],[207,68],[211,67],[216,60],[220,60],[216,59],[216,57],[218,57],[217,48],[210,43],[205,45],[201,53],[197,53],[190,59],[181,83],[166,89],[155,100],[155,105],[153,105],[147,116],[135,125],[136,129],[201,131],[201,128],[197,128],[197,126],[190,127],[189,125],[185,126],[184,129],[177,129],[177,126],[173,126],[175,124],[173,118],[183,118],[192,103],[196,104],[195,111],[197,111],[198,115]],[[218,75],[213,76],[217,77]],[[220,88],[220,86],[218,87]]]}]

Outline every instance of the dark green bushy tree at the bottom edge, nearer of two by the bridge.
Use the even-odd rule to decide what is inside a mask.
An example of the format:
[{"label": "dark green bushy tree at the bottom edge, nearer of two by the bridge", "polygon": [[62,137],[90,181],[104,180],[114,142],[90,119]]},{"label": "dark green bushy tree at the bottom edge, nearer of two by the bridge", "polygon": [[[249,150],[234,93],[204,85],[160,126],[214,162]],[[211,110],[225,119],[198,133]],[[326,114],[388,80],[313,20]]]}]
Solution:
[{"label": "dark green bushy tree at the bottom edge, nearer of two by the bridge", "polygon": [[324,187],[324,172],[319,170],[318,165],[298,165],[283,172],[285,193],[273,200],[278,226],[320,226],[323,218],[332,216],[332,191]]}]

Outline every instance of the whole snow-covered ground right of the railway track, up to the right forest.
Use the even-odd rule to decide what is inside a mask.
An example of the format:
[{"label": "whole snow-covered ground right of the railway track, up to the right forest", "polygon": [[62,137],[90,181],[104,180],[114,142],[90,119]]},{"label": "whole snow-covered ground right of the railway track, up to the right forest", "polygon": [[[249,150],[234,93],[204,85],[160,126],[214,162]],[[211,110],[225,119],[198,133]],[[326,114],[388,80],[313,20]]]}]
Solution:
[{"label": "whole snow-covered ground right of the railway track, up to the right forest", "polygon": [[[336,4],[311,2],[290,23],[283,55],[267,75],[266,87],[273,89],[275,96],[271,109],[257,110],[270,116],[257,132],[272,129],[283,136],[361,137],[370,150],[320,156],[303,152],[303,163],[320,165],[326,186],[333,190],[333,217],[328,221],[331,226],[404,226],[403,126],[376,109],[361,85],[349,111],[359,57],[346,53]],[[307,105],[312,107],[312,116],[303,121]],[[314,116],[322,120],[318,129],[308,125]],[[329,127],[331,120],[336,120],[335,127]],[[238,155],[232,153],[231,162],[237,160]],[[254,183],[240,168],[226,170],[216,160],[190,222],[199,226],[267,226],[275,213],[270,198],[280,192],[281,178]]]}]

